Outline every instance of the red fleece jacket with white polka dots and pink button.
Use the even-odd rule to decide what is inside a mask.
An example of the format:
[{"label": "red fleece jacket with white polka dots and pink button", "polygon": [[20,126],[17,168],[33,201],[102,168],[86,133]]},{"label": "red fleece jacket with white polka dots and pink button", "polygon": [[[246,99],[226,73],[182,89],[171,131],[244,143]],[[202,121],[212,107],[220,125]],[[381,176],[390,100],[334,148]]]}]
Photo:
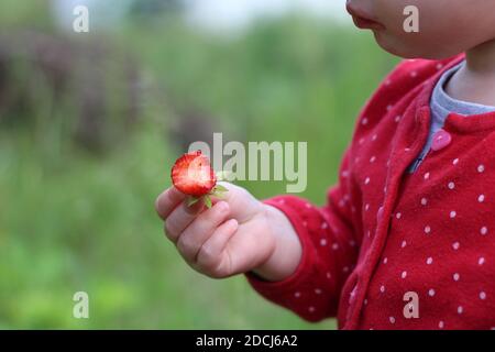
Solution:
[{"label": "red fleece jacket with white polka dots and pink button", "polygon": [[[310,321],[337,316],[341,329],[495,327],[495,112],[450,114],[436,151],[407,172],[435,85],[462,59],[407,61],[385,79],[324,207],[267,201],[292,221],[302,258],[283,282],[248,274],[260,294]],[[405,315],[410,293],[418,318]]]}]

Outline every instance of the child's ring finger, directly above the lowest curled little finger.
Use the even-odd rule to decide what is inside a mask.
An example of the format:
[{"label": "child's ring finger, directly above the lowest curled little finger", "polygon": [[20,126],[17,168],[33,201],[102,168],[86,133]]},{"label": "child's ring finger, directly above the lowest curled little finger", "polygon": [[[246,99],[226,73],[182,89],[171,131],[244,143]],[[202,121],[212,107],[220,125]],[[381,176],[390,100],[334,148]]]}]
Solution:
[{"label": "child's ring finger, directly above the lowest curled little finger", "polygon": [[190,264],[196,261],[196,256],[201,245],[215,232],[215,230],[226,221],[229,216],[229,205],[224,201],[217,202],[211,209],[204,211],[193,221],[177,240],[177,249],[182,256]]}]

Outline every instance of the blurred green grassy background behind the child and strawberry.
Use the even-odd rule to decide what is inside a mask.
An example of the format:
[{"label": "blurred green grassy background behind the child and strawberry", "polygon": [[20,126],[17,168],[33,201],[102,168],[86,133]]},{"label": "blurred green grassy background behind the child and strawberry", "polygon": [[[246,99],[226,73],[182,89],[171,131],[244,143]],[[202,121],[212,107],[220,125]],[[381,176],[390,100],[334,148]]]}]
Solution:
[{"label": "blurred green grassy background behind the child and strawberry", "polygon": [[[87,34],[57,25],[47,0],[0,2],[0,328],[334,328],[265,301],[243,277],[188,268],[154,200],[190,142],[223,132],[307,141],[301,196],[323,204],[396,58],[350,21],[287,13],[213,33],[185,21],[180,2],[131,2]],[[260,198],[285,189],[242,185]],[[73,318],[78,290],[89,319]]]}]

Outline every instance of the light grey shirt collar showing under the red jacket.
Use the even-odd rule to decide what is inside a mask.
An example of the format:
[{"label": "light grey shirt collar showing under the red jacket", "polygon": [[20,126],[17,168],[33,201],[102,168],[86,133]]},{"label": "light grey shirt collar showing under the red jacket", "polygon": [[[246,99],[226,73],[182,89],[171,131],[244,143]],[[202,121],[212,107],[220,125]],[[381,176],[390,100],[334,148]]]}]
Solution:
[{"label": "light grey shirt collar showing under the red jacket", "polygon": [[435,133],[443,128],[446,119],[449,117],[449,114],[453,112],[457,114],[465,116],[465,118],[469,119],[469,117],[472,114],[481,114],[495,111],[495,107],[457,100],[451,98],[446,92],[444,87],[447,82],[464,64],[465,62],[446,72],[435,87],[430,101],[431,124],[430,132],[428,134],[428,141],[416,161],[409,166],[409,173],[414,173],[425,160],[431,148]]}]

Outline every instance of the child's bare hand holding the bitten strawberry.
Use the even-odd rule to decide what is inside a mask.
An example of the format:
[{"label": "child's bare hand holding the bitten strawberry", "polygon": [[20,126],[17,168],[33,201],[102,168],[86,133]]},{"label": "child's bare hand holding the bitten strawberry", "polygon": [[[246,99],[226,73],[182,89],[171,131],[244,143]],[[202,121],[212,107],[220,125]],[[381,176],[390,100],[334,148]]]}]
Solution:
[{"label": "child's bare hand holding the bitten strawberry", "polygon": [[244,188],[229,189],[213,207],[187,207],[186,196],[172,187],[156,200],[165,233],[185,261],[211,277],[254,271],[268,280],[290,275],[301,255],[298,238],[287,218],[263,205]]}]

